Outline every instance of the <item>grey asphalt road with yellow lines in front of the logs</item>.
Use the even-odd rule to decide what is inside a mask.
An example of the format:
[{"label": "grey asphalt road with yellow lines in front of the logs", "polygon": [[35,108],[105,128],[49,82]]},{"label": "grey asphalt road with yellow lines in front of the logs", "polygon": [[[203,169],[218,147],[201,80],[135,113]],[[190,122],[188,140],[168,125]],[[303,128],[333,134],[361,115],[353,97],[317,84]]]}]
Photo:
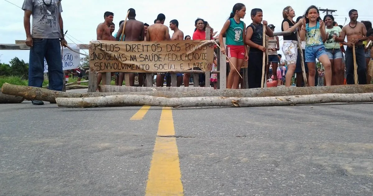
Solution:
[{"label": "grey asphalt road with yellow lines in front of the logs", "polygon": [[0,105],[0,195],[373,195],[371,103],[140,108]]}]

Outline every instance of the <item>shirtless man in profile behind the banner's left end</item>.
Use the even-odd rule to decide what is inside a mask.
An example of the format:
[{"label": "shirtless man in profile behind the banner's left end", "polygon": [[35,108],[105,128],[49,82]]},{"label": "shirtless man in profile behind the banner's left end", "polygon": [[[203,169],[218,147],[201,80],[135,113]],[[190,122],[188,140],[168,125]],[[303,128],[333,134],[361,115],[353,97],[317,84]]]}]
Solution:
[{"label": "shirtless man in profile behind the banner's left end", "polygon": [[[110,32],[110,24],[112,24],[114,18],[114,13],[113,12],[105,12],[104,13],[104,22],[98,24],[96,33],[97,33],[97,40],[113,40],[112,39],[112,34]],[[101,73],[97,74],[97,88],[96,91],[98,90],[98,85],[101,83]],[[106,84],[106,81],[102,81],[102,84]]]}]

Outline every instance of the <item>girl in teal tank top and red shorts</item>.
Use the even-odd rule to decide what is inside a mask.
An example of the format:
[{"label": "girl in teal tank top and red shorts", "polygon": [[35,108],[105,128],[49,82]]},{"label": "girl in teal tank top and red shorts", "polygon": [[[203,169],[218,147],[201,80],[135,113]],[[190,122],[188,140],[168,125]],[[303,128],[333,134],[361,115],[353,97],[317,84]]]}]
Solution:
[{"label": "girl in teal tank top and red shorts", "polygon": [[[245,14],[245,5],[242,3],[236,3],[233,6],[229,19],[224,23],[219,34],[221,52],[226,54],[231,61],[231,63],[229,63],[230,71],[227,88],[238,88],[240,81],[238,73],[244,60],[248,60],[247,46],[244,43],[246,25],[241,21],[241,18],[244,18]],[[224,34],[226,35],[225,44],[227,44],[227,49],[225,49],[223,43]]]}]

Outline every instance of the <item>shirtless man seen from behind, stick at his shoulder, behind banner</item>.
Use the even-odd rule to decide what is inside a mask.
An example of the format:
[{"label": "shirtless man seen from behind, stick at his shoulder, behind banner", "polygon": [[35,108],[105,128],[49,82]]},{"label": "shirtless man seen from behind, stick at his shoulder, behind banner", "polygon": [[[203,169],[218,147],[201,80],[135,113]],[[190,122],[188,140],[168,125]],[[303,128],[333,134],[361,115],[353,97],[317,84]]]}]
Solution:
[{"label": "shirtless man seen from behind, stick at his shoulder, behind banner", "polygon": [[[144,41],[144,35],[145,35],[145,29],[144,29],[144,23],[137,21],[135,19],[136,12],[133,8],[128,9],[128,21],[126,22],[126,27],[124,29],[124,41]],[[120,24],[119,30],[116,35],[116,40],[119,41],[120,35],[123,31],[123,25]],[[121,86],[123,83],[124,78],[124,72],[119,73],[119,81],[118,84]],[[142,86],[144,83],[144,73],[138,74],[138,81],[139,85]],[[127,82],[127,81],[126,81]],[[135,86],[135,73],[129,72],[129,85]]]}]

